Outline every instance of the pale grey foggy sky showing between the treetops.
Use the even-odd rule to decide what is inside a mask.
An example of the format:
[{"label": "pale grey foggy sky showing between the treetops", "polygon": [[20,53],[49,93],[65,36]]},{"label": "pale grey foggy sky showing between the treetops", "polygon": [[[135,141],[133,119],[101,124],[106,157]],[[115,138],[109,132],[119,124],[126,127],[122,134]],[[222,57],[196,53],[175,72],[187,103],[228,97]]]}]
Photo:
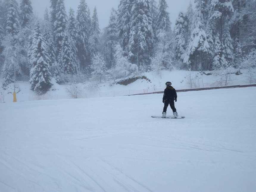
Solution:
[{"label": "pale grey foggy sky showing between the treetops", "polygon": [[[43,18],[43,13],[47,7],[50,11],[50,0],[31,0],[34,13]],[[158,2],[158,0],[156,0]],[[186,11],[190,0],[166,0],[169,6],[168,11],[170,13],[170,19],[172,23],[172,28],[175,24],[175,20],[179,14],[179,11]],[[69,8],[73,8],[75,12],[79,5],[80,0],[65,0],[66,12],[68,14]],[[99,26],[101,29],[108,25],[110,11],[113,7],[117,10],[120,0],[86,0],[91,15],[93,14],[93,8],[96,6],[99,18]]]}]

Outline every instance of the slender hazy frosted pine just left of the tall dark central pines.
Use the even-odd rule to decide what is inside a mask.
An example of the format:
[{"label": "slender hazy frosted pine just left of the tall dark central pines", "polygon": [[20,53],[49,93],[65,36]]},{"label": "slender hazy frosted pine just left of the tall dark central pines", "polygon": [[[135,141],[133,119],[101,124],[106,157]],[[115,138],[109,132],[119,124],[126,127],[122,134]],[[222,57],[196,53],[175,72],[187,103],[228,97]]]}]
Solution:
[{"label": "slender hazy frosted pine just left of the tall dark central pines", "polygon": [[109,18],[109,24],[104,29],[106,34],[106,48],[104,50],[107,68],[114,65],[115,46],[118,44],[117,11],[112,8]]}]

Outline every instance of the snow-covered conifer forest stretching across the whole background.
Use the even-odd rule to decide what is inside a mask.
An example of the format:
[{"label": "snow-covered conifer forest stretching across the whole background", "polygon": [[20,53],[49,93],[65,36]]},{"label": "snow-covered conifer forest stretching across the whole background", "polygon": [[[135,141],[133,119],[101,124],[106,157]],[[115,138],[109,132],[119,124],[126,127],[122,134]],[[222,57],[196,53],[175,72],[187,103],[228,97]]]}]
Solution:
[{"label": "snow-covered conifer forest stretching across the whole background", "polygon": [[83,74],[102,82],[173,68],[239,68],[255,58],[254,0],[195,0],[195,9],[190,3],[180,12],[173,30],[166,0],[121,0],[103,30],[96,7],[91,17],[85,0],[76,14],[71,8],[67,14],[64,0],[50,2],[50,12],[36,18],[30,0],[0,0],[4,88],[14,70],[17,80],[29,77],[31,89],[45,93],[52,78],[64,83]]}]

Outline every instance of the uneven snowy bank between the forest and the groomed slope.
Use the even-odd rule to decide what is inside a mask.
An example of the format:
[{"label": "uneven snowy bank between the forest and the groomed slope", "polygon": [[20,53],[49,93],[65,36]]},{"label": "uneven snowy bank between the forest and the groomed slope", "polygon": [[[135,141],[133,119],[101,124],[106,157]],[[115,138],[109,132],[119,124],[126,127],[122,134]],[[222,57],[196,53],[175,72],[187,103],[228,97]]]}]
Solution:
[{"label": "uneven snowy bank between the forest and the groomed slope", "polygon": [[[252,83],[256,83],[256,69],[252,75]],[[250,84],[250,74],[247,69],[242,69],[242,74],[236,75],[236,69],[230,69],[227,72],[231,73],[227,78],[227,85],[245,85]],[[205,73],[212,73],[212,75],[205,75],[197,71],[161,71],[160,75],[154,72],[144,73],[150,81],[145,79],[138,79],[137,81],[129,85],[116,85],[113,82],[105,82],[100,85],[92,85],[91,83],[79,84],[79,98],[95,98],[104,96],[122,96],[131,95],[137,93],[148,93],[155,91],[163,91],[165,89],[165,83],[171,81],[176,89],[188,89],[191,88],[189,78],[192,81],[192,88],[202,87],[214,87],[225,86],[226,77],[223,71],[207,71]],[[119,79],[120,80],[120,79]],[[117,80],[118,81],[118,80]],[[43,99],[70,99],[71,96],[66,91],[66,85],[58,85],[54,81],[50,91],[43,96],[36,95],[30,90],[29,82],[17,82],[16,92],[17,100],[20,101],[33,101]],[[1,84],[1,82],[0,82]],[[90,84],[90,86],[89,86]],[[14,85],[10,84],[7,90],[1,90],[0,88],[0,102],[12,102],[13,101],[13,89]]]}]

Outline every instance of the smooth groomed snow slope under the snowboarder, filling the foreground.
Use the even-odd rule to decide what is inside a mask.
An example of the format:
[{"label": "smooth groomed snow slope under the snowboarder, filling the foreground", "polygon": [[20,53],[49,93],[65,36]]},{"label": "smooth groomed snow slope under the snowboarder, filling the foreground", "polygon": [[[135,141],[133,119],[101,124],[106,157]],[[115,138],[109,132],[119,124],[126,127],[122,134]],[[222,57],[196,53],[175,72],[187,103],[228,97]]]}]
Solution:
[{"label": "smooth groomed snow slope under the snowboarder, filling the foreground", "polygon": [[[256,88],[0,104],[0,191],[256,189]],[[171,114],[168,108],[167,115]]]}]

